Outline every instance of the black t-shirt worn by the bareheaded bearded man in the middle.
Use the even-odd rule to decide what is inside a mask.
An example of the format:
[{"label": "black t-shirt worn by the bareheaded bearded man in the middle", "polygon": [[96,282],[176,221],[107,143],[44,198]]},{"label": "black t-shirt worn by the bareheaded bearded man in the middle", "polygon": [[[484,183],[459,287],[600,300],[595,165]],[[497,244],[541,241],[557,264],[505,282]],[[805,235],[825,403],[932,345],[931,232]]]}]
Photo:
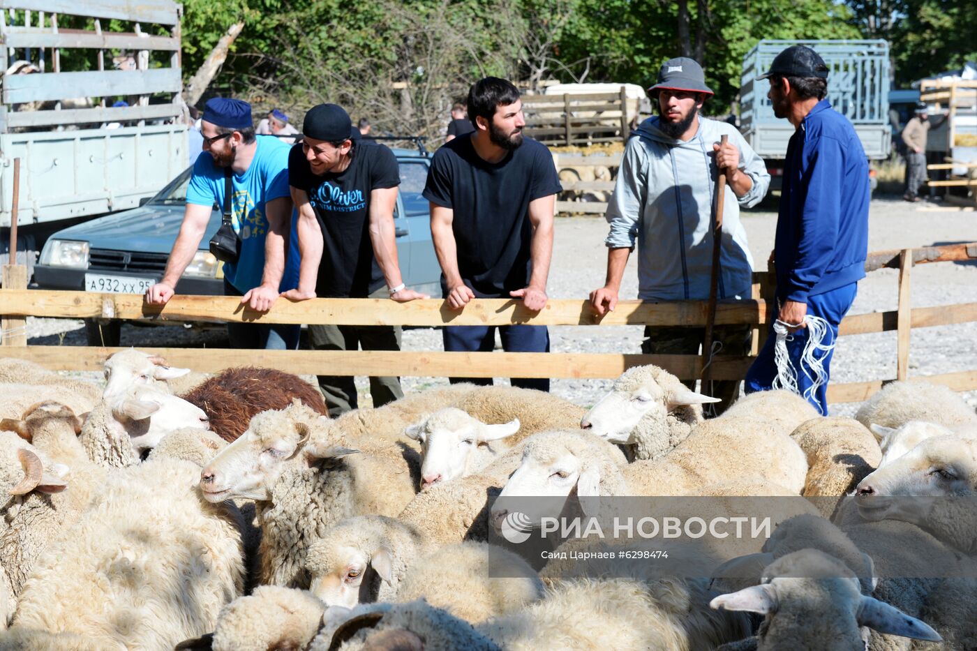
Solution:
[{"label": "black t-shirt worn by the bareheaded bearded man in the middle", "polygon": [[544,145],[524,138],[501,162],[489,163],[463,136],[435,152],[424,197],[454,213],[462,281],[476,296],[498,298],[530,282],[530,201],[561,190]]}]

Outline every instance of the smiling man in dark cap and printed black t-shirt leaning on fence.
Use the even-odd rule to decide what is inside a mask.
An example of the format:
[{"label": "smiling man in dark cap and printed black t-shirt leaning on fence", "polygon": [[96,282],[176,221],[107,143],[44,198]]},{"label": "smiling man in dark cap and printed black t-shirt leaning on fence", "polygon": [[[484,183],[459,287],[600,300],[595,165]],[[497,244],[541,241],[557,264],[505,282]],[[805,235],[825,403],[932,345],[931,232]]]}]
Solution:
[{"label": "smiling man in dark cap and printed black t-shirt leaning on fence", "polygon": [[[299,211],[299,286],[288,298],[428,298],[404,287],[397,260],[394,207],[401,176],[394,153],[351,138],[345,109],[320,104],[303,123],[302,143],[288,156],[288,182]],[[310,325],[317,350],[400,350],[401,328]],[[398,377],[370,377],[373,406],[402,398]],[[358,407],[350,376],[319,375],[329,415]]]}]

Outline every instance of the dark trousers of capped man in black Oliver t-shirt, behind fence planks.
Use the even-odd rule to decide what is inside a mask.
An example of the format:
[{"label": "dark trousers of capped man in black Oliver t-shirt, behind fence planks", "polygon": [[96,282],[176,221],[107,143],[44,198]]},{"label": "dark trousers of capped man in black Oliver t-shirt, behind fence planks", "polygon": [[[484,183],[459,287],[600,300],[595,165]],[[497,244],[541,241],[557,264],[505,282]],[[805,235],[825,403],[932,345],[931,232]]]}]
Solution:
[{"label": "dark trousers of capped man in black Oliver t-shirt, behind fence planks", "polygon": [[[370,298],[387,298],[386,287],[370,294]],[[313,350],[401,350],[401,328],[392,325],[310,325],[309,343]],[[319,375],[319,390],[330,416],[359,409],[357,385],[352,375]],[[370,377],[370,396],[373,407],[404,397],[401,378],[397,376]]]}]

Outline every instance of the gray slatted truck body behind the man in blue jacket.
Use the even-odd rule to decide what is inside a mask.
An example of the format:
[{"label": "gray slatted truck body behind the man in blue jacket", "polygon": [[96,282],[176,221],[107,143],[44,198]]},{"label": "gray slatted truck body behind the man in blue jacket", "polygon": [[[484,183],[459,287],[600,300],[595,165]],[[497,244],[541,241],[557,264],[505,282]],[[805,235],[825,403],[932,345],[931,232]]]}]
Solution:
[{"label": "gray slatted truck body behind the man in blue jacket", "polygon": [[[740,130],[749,146],[767,162],[771,189],[780,188],[787,141],[793,126],[774,115],[767,98],[769,82],[757,76],[770,69],[774,58],[792,45],[806,45],[828,65],[828,101],[855,126],[870,160],[892,152],[889,124],[889,44],[878,40],[795,41],[765,39],[743,57],[740,88]],[[873,174],[873,172],[872,172]],[[872,188],[874,188],[872,176]]]}]

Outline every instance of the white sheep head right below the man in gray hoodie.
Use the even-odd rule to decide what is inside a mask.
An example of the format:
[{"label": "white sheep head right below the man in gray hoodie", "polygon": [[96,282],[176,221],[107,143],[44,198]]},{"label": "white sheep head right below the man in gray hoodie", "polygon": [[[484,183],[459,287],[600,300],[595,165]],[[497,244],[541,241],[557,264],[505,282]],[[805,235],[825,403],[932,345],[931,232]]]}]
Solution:
[{"label": "white sheep head right below the man in gray hoodie", "polygon": [[634,428],[645,418],[663,421],[680,408],[717,403],[690,391],[671,373],[655,366],[627,369],[611,393],[591,408],[580,427],[616,444],[635,443]]}]

